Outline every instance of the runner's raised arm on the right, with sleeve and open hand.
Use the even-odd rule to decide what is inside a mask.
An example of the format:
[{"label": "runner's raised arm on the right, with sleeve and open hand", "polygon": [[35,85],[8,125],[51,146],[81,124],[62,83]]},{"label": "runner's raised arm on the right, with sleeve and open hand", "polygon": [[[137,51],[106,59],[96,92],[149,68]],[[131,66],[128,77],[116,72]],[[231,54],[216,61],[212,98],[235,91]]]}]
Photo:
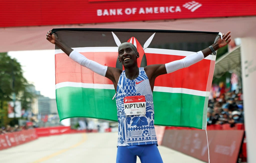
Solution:
[{"label": "runner's raised arm on the right, with sleeve and open hand", "polygon": [[[229,34],[230,34],[230,31],[226,35],[223,34],[223,39],[221,39],[221,37],[219,37],[217,39],[217,41],[214,44],[211,45],[214,48],[215,51],[218,50],[219,48],[223,47],[223,46],[226,46],[231,41],[231,39],[230,39],[231,35],[229,35]],[[212,53],[211,49],[209,47],[207,47],[207,48],[203,49],[200,52],[191,54],[191,55],[186,56],[185,58],[180,59],[180,60],[169,62],[167,64],[158,64],[158,65],[146,66],[145,71],[146,71],[147,76],[149,77],[149,79],[152,78],[153,81],[154,81],[154,79],[156,77],[158,77],[159,75],[166,74],[166,73],[171,73],[171,72],[174,72],[178,69],[191,66],[191,65],[195,64],[196,62],[204,59],[205,57],[207,57],[211,53]]]}]

